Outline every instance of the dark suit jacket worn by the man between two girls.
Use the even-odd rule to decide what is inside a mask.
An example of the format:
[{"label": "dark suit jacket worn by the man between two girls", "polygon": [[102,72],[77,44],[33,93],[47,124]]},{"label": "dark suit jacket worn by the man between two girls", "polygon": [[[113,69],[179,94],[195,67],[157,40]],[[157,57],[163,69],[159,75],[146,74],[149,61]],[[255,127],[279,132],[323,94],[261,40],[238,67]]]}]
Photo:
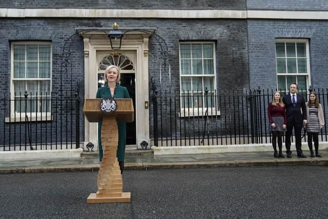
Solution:
[{"label": "dark suit jacket worn by the man between two girls", "polygon": [[301,94],[296,94],[296,106],[293,106],[292,97],[290,94],[285,95],[282,98],[282,102],[285,104],[287,123],[295,121],[296,123],[302,123],[306,120],[306,107],[304,97]]}]

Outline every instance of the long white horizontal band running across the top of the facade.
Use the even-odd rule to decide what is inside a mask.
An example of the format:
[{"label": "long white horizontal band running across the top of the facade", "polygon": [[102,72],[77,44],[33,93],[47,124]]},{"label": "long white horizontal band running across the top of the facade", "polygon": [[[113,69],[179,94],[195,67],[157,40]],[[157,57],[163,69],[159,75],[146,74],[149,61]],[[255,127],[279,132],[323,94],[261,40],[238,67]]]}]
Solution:
[{"label": "long white horizontal band running across the top of the facade", "polygon": [[327,11],[1,8],[0,17],[328,19]]}]

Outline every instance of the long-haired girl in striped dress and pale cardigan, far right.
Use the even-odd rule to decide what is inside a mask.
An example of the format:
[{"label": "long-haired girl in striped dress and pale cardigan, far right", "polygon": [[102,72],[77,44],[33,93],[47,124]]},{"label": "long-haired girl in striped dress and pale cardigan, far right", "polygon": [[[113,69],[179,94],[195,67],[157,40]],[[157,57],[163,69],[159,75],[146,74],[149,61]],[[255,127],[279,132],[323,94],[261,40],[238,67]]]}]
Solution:
[{"label": "long-haired girl in striped dress and pale cardigan, far right", "polygon": [[[306,124],[306,132],[308,132],[308,146],[310,149],[311,157],[321,157],[319,154],[319,131],[324,125],[324,117],[321,104],[317,98],[316,92],[311,92],[309,95],[309,102],[306,105],[306,112],[308,113],[308,123]],[[312,138],[316,155],[313,154]]]}]

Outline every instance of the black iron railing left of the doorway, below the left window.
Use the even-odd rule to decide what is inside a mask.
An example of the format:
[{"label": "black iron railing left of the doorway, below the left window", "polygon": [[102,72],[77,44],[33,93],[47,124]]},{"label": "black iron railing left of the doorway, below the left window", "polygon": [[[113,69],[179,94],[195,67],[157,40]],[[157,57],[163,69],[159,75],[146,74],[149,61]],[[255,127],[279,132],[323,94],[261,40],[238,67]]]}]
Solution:
[{"label": "black iron railing left of the doorway, below the left window", "polygon": [[79,148],[76,92],[4,95],[0,151]]}]

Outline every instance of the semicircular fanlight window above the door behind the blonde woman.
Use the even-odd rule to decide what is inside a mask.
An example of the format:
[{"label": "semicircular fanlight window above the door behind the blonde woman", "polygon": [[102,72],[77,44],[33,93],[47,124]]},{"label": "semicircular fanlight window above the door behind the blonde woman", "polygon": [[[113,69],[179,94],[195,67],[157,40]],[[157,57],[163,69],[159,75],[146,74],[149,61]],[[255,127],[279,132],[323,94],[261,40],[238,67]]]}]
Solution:
[{"label": "semicircular fanlight window above the door behind the blonde woman", "polygon": [[106,70],[110,65],[118,66],[121,70],[134,70],[134,66],[130,58],[123,54],[110,54],[101,59],[98,70]]}]

